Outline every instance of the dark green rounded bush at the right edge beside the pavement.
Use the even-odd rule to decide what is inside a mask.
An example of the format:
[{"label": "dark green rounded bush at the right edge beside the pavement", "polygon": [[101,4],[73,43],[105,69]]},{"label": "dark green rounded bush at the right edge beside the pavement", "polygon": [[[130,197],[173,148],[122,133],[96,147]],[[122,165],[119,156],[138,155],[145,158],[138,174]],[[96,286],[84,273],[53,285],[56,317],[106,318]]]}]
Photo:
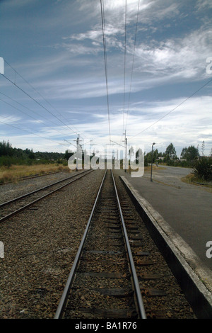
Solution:
[{"label": "dark green rounded bush at the right edge beside the pavement", "polygon": [[202,180],[212,181],[212,158],[199,159],[194,165],[193,173]]}]

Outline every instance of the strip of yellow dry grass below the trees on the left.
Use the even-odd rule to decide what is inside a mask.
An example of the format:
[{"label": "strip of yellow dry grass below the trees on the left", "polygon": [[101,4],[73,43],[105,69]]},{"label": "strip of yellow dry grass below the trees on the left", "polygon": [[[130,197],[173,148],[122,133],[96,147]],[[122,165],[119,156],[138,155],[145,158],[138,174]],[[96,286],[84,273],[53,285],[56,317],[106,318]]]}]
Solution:
[{"label": "strip of yellow dry grass below the trees on the left", "polygon": [[62,171],[66,169],[71,171],[68,166],[59,166],[58,164],[36,164],[36,165],[12,165],[9,168],[6,166],[0,167],[0,183],[8,181],[17,182],[18,179],[25,176],[35,176],[47,174],[54,171]]}]

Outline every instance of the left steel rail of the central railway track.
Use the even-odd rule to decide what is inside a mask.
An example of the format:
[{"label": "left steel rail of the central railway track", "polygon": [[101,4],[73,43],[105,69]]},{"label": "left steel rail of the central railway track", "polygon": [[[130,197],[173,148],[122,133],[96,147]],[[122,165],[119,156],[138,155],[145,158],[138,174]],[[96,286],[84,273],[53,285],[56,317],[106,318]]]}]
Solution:
[{"label": "left steel rail of the central railway track", "polygon": [[86,242],[86,237],[88,235],[88,230],[89,230],[89,227],[90,227],[90,221],[93,218],[93,213],[94,213],[95,207],[96,207],[96,205],[98,203],[98,198],[100,196],[100,192],[101,192],[101,189],[102,189],[102,184],[105,181],[106,174],[107,174],[107,169],[106,169],[105,174],[104,174],[104,176],[102,178],[102,182],[100,184],[100,188],[98,190],[98,194],[97,194],[97,196],[95,198],[95,203],[93,205],[93,209],[92,209],[92,211],[90,213],[90,218],[89,218],[88,223],[86,225],[86,230],[85,230],[85,232],[83,234],[83,238],[81,239],[81,244],[80,244],[80,246],[78,248],[78,252],[76,254],[76,257],[75,257],[75,259],[73,261],[73,265],[72,265],[71,271],[69,273],[69,278],[68,278],[68,280],[66,282],[66,286],[64,288],[64,292],[63,292],[63,294],[61,296],[61,299],[59,301],[59,305],[58,305],[57,311],[56,311],[56,313],[54,315],[54,319],[61,319],[62,315],[63,315],[63,312],[64,312],[64,308],[66,307],[66,303],[67,303],[67,300],[69,298],[69,292],[71,290],[71,286],[73,284],[74,276],[75,276],[76,270],[78,268],[79,261],[81,259],[81,254],[82,254],[82,251],[83,251],[83,245]]}]

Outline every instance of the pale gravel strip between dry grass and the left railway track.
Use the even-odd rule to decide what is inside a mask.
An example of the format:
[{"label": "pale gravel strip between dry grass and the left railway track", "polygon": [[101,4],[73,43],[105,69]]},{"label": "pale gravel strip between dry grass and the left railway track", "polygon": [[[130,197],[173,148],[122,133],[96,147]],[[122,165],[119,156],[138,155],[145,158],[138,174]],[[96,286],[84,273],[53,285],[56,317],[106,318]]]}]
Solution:
[{"label": "pale gravel strip between dry grass and the left railway track", "polygon": [[[80,171],[78,172],[78,174]],[[76,171],[61,171],[57,174],[43,175],[36,178],[25,179],[17,183],[3,184],[0,186],[0,203],[4,203],[23,194],[32,192],[43,186],[60,181],[69,176],[74,176]]]}]

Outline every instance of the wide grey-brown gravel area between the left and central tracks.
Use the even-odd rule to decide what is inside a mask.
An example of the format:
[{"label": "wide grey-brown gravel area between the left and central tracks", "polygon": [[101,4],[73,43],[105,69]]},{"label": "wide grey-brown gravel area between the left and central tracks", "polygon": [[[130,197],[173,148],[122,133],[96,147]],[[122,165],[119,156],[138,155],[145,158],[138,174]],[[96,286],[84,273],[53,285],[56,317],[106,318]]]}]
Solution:
[{"label": "wide grey-brown gravel area between the left and central tracks", "polygon": [[1,319],[54,317],[103,172],[91,172],[0,225]]}]

